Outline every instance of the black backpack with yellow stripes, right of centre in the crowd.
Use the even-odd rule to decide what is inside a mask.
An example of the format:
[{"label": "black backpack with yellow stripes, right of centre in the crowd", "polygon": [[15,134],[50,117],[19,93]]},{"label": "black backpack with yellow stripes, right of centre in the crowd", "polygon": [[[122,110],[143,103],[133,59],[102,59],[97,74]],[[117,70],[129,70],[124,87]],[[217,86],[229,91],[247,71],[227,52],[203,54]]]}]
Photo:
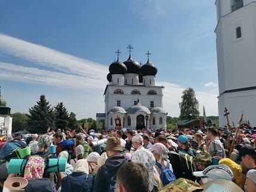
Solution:
[{"label": "black backpack with yellow stripes, right of centre in the crowd", "polygon": [[195,181],[196,177],[193,172],[196,171],[193,156],[187,153],[179,152],[180,156],[180,177]]}]

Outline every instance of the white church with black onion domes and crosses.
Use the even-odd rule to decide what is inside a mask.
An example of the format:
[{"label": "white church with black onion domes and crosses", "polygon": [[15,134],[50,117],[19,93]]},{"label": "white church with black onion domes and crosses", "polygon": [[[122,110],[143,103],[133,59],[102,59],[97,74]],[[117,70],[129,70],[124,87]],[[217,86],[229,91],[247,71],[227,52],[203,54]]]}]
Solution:
[{"label": "white church with black onion domes and crosses", "polygon": [[105,113],[97,113],[97,128],[100,119],[106,129],[115,129],[116,120],[121,128],[166,129],[167,113],[162,108],[164,86],[155,85],[156,66],[149,61],[142,65],[131,58],[123,63],[118,60],[110,64],[108,84],[104,91]]}]

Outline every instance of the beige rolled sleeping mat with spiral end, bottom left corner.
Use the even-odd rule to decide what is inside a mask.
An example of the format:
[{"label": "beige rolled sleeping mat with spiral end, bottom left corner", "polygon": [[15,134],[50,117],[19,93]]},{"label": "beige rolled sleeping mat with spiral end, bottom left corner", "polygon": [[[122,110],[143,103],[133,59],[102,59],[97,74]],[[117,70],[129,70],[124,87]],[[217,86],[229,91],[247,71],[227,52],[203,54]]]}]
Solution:
[{"label": "beige rolled sleeping mat with spiral end, bottom left corner", "polygon": [[3,192],[21,192],[27,186],[27,179],[21,177],[9,178],[4,182]]}]

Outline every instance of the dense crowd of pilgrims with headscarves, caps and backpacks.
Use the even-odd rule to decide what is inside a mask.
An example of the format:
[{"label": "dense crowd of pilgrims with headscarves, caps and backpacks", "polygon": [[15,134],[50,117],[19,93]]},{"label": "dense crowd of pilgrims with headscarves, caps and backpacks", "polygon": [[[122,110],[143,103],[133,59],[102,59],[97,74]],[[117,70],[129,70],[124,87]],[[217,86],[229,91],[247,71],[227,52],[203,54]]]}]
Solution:
[{"label": "dense crowd of pilgrims with headscarves, caps and backpacks", "polygon": [[[256,130],[246,127],[237,134],[236,128],[215,127],[16,132],[14,137],[0,135],[0,182],[21,176],[61,192],[172,191],[174,186],[178,191],[184,182],[198,191],[210,184],[256,191],[255,138]],[[67,150],[63,146],[69,140],[73,145]],[[14,151],[26,146],[31,153],[24,157],[23,171],[8,174],[10,160],[18,158]],[[55,150],[50,154],[51,146]],[[65,159],[65,170],[47,172],[49,159]]]}]

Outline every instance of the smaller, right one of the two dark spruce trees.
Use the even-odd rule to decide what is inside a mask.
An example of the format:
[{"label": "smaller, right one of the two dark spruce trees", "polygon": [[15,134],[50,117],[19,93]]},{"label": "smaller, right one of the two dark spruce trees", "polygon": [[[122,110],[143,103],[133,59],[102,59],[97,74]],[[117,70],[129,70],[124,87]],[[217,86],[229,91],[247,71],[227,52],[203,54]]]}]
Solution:
[{"label": "smaller, right one of the two dark spruce trees", "polygon": [[69,123],[69,113],[67,112],[66,107],[63,106],[63,103],[58,103],[57,106],[54,106],[55,114],[55,127],[56,129],[65,129]]}]

